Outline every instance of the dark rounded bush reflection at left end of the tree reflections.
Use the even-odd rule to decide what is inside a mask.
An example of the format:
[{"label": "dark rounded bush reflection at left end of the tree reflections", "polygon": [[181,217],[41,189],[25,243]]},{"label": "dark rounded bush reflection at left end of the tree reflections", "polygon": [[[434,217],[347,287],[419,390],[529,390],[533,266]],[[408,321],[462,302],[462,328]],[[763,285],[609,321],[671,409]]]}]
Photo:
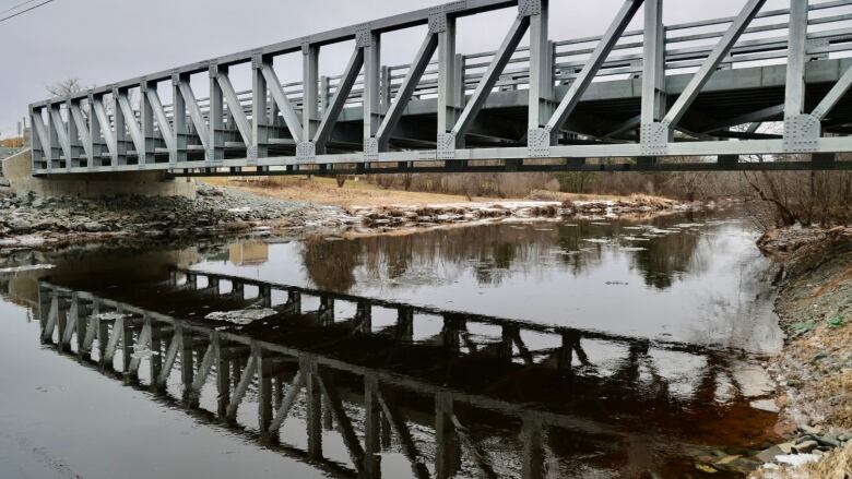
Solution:
[{"label": "dark rounded bush reflection at left end of the tree reflections", "polygon": [[327,241],[308,238],[303,256],[308,277],[320,289],[348,291],[355,285],[355,267],[360,264],[358,241]]}]

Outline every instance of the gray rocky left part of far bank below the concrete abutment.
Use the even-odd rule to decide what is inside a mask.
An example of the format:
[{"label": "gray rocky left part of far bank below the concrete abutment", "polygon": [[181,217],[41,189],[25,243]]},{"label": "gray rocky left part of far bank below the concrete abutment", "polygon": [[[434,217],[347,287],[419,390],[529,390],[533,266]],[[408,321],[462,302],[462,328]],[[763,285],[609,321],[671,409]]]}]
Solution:
[{"label": "gray rocky left part of far bank below the concrete abutment", "polygon": [[336,207],[200,184],[196,199],[121,195],[96,200],[0,199],[0,249],[55,248],[117,238],[203,237],[258,229],[336,227]]}]

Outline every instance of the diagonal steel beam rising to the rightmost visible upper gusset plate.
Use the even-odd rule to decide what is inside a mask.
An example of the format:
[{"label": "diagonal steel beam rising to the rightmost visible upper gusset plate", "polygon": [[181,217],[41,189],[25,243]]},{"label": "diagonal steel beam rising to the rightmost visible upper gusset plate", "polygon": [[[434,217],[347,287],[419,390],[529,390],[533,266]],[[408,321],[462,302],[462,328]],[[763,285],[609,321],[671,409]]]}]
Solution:
[{"label": "diagonal steel beam rising to the rightmost visible upper gusset plate", "polygon": [[523,38],[526,29],[530,26],[529,16],[519,16],[514,20],[509,27],[509,32],[500,44],[500,48],[494,53],[492,62],[483,73],[482,80],[476,85],[476,89],[473,95],[468,99],[468,104],[464,106],[459,119],[455,121],[455,125],[452,128],[452,135],[455,137],[455,145],[461,146],[464,142],[464,134],[473,124],[473,120],[476,119],[476,115],[485,105],[485,100],[488,99],[488,95],[492,93],[495,83],[500,77],[500,72],[506,68],[512,53],[518,48],[518,44]]}]

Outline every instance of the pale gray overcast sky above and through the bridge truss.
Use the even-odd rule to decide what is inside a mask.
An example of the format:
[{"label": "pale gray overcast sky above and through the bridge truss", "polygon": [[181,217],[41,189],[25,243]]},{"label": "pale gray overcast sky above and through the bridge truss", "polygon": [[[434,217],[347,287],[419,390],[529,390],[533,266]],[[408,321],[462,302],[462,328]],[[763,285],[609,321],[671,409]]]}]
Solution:
[{"label": "pale gray overcast sky above and through the bridge truss", "polygon": [[[0,0],[0,11],[23,0]],[[623,0],[551,0],[551,38],[600,35]],[[664,22],[733,15],[746,0],[667,0]],[[14,134],[45,86],[78,77],[104,85],[220,55],[443,3],[436,0],[55,0],[0,22],[0,137]],[[782,8],[769,0],[765,9]],[[495,49],[517,9],[460,21],[459,51]],[[0,14],[2,17],[3,14]],[[632,28],[641,25],[641,13]],[[425,27],[387,35],[383,63],[407,63]],[[340,74],[351,45],[323,48],[320,69]],[[288,64],[288,63],[287,63]],[[282,71],[289,70],[289,71]],[[283,82],[300,77],[276,63]],[[239,85],[237,86],[239,87]],[[205,96],[205,95],[203,95]]]}]

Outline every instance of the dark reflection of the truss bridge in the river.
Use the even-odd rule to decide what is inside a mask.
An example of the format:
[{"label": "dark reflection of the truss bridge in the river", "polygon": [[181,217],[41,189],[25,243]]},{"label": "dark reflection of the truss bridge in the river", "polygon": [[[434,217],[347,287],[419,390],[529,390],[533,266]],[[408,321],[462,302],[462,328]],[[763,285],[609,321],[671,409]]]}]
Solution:
[{"label": "dark reflection of the truss bridge in the river", "polygon": [[[252,307],[274,314],[202,319]],[[40,282],[38,318],[60,354],[335,477],[668,476],[690,444],[755,446],[774,423],[735,351],[236,276]],[[672,363],[697,364],[691,384]]]}]

